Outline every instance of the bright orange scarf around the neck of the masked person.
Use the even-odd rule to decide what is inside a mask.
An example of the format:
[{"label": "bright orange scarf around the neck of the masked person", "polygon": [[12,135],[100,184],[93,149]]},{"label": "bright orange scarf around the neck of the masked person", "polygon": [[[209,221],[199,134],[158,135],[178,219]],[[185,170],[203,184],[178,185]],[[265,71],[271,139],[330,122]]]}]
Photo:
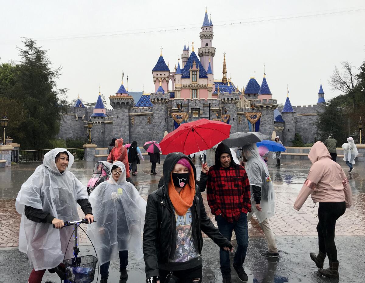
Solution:
[{"label": "bright orange scarf around the neck of the masked person", "polygon": [[195,196],[195,180],[192,167],[190,167],[189,184],[186,184],[180,193],[176,191],[172,174],[170,175],[168,193],[176,213],[180,216],[185,215],[188,209],[192,207]]}]

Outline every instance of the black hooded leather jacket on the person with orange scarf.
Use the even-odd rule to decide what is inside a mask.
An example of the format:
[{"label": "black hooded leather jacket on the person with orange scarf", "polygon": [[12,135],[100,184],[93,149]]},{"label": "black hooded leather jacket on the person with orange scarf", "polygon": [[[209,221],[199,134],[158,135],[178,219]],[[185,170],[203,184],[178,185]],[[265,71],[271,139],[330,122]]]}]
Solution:
[{"label": "black hooded leather jacket on the person with orange scarf", "polygon": [[[176,249],[176,221],[172,202],[168,195],[170,174],[183,153],[170,153],[164,161],[164,185],[148,196],[145,227],[143,229],[143,254],[146,264],[146,277],[159,276],[159,266],[169,263],[173,259]],[[195,166],[190,161],[194,175]],[[195,198],[192,205],[192,229],[194,243],[197,251],[203,248],[203,231],[220,247],[229,246],[231,243],[219,233],[207,216],[199,187],[196,186]],[[187,263],[189,263],[188,261]],[[180,263],[185,264],[185,263]],[[201,264],[201,261],[200,261]],[[189,267],[187,267],[188,269]]]}]

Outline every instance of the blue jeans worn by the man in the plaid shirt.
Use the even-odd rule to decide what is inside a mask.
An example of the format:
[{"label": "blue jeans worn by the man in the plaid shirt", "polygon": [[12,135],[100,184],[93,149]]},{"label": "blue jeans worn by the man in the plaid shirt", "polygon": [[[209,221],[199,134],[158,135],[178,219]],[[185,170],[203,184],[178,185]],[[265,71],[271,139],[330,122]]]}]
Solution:
[{"label": "blue jeans worn by the man in the plaid shirt", "polygon": [[[218,224],[218,230],[223,237],[231,240],[233,230],[236,233],[237,251],[234,254],[233,265],[235,267],[241,267],[245,262],[247,246],[249,245],[246,213],[241,212],[238,221],[233,221],[233,223],[228,222],[222,215],[216,216],[215,220]],[[222,271],[223,276],[231,274],[229,253],[230,252],[224,251],[222,248],[219,250],[220,271]]]}]

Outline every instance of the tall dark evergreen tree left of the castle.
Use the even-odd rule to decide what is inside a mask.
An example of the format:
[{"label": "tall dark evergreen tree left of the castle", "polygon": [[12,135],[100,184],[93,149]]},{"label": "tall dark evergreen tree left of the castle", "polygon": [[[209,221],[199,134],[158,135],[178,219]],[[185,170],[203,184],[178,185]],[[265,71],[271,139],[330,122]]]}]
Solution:
[{"label": "tall dark evergreen tree left of the castle", "polygon": [[[16,72],[12,72],[14,85],[4,96],[17,112],[22,113],[19,121],[17,115],[8,117],[9,135],[18,138],[16,141],[22,149],[48,148],[51,146],[49,141],[58,134],[62,114],[69,106],[67,89],[57,88],[55,80],[61,74],[61,68],[51,68],[47,50],[38,47],[32,39],[25,38],[23,44],[24,49],[18,48],[20,64],[16,66]],[[6,72],[3,74],[5,76]],[[10,76],[7,78],[4,81],[11,81]],[[12,132],[10,125],[15,123],[18,123],[17,128]]]}]

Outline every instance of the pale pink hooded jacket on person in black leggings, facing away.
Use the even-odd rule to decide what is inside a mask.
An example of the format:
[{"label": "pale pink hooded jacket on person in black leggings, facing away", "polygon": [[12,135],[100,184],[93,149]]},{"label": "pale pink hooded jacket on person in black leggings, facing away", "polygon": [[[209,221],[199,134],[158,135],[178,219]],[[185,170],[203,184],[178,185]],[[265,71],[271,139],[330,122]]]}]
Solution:
[{"label": "pale pink hooded jacket on person in black leggings, facing away", "polygon": [[349,208],[352,203],[349,181],[341,166],[331,160],[323,142],[318,141],[312,146],[308,158],[313,165],[297,196],[294,209],[300,210],[309,195],[313,202],[346,202]]}]

